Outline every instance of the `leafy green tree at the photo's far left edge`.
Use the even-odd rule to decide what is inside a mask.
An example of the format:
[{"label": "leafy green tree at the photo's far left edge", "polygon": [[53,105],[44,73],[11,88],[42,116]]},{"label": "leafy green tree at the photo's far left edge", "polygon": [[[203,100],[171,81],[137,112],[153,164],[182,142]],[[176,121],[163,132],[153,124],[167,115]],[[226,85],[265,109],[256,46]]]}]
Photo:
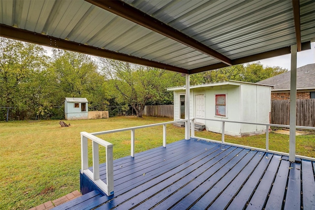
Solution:
[{"label": "leafy green tree at the photo's far left edge", "polygon": [[15,107],[20,119],[33,115],[32,77],[46,69],[46,51],[38,45],[0,38],[0,106]]}]

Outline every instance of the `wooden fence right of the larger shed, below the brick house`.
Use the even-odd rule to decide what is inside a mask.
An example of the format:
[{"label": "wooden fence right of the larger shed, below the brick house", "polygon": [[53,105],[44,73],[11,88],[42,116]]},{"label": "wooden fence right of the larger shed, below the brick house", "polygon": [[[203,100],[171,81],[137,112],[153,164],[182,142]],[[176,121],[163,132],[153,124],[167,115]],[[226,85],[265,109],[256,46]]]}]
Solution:
[{"label": "wooden fence right of the larger shed, below the brick house", "polygon": [[[290,123],[290,100],[271,101],[271,123]],[[296,125],[315,127],[315,99],[296,100]]]}]

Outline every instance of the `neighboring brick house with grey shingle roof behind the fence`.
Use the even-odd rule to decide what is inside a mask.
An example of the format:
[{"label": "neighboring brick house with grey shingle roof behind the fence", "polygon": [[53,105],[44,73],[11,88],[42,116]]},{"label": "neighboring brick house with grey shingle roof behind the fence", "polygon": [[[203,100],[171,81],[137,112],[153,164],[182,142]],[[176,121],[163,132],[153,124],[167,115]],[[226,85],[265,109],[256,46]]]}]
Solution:
[{"label": "neighboring brick house with grey shingle roof behind the fence", "polygon": [[[257,82],[274,86],[271,100],[290,99],[290,71]],[[315,63],[296,69],[296,99],[315,98]]]}]

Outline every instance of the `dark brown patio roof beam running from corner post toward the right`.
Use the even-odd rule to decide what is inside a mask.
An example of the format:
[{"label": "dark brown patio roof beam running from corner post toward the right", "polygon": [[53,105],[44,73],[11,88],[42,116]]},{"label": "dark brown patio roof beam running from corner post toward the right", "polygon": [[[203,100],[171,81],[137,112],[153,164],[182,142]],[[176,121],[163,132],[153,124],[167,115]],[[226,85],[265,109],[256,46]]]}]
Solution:
[{"label": "dark brown patio roof beam running from corner post toward the right", "polygon": [[[311,42],[310,41],[301,43],[301,50],[302,51],[303,50],[310,50],[310,49],[311,49]],[[290,53],[291,53],[291,47],[290,46],[289,47],[283,47],[283,48],[279,48],[276,50],[271,50],[268,52],[255,54],[252,56],[234,59],[234,60],[232,60],[232,63],[233,63],[233,65],[237,65],[237,64],[247,63],[247,62],[253,62],[256,60],[273,58],[276,56],[283,56],[283,55],[287,55]],[[214,69],[223,68],[226,66],[228,66],[228,65],[226,65],[225,63],[222,63],[222,62],[215,63],[212,65],[207,65],[207,66],[191,69],[191,70],[189,70],[189,74],[195,74],[195,73],[199,73],[199,72],[203,72],[203,71],[214,70]]]}]

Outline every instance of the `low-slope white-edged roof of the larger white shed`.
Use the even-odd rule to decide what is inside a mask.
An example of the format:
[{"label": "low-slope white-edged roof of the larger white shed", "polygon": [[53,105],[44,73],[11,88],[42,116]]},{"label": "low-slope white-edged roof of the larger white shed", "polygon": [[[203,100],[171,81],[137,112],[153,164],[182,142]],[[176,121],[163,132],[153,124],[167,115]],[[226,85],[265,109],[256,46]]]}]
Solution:
[{"label": "low-slope white-edged roof of the larger white shed", "polygon": [[[211,88],[211,87],[213,88],[213,87],[222,87],[222,86],[225,86],[225,87],[226,86],[241,86],[241,85],[272,86],[272,85],[265,85],[265,84],[256,84],[256,83],[228,80],[228,81],[217,82],[217,83],[205,83],[205,84],[200,84],[200,85],[192,85],[189,88],[196,89],[196,88]],[[186,89],[185,86],[167,88],[167,90],[170,90],[170,91],[185,90],[185,89]]]}]

